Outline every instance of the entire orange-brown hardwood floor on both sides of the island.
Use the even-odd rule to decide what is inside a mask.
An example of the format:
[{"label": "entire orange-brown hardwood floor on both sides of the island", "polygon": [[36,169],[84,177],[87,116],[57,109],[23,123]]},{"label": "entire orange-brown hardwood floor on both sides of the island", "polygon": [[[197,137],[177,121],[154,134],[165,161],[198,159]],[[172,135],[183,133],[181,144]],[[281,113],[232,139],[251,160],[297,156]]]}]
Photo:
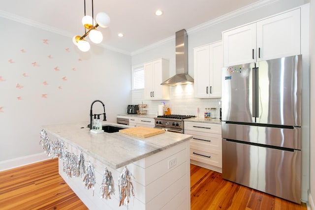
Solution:
[{"label": "entire orange-brown hardwood floor on both sides of the island", "polygon": [[[190,165],[191,210],[306,210],[274,196],[223,180]],[[87,210],[58,174],[51,159],[0,172],[0,210]]]}]

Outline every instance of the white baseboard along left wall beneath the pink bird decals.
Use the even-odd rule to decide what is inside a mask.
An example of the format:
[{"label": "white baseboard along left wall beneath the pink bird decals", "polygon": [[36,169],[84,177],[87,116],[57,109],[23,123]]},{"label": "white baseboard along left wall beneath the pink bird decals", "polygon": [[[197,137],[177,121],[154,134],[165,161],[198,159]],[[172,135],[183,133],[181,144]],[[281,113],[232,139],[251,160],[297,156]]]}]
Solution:
[{"label": "white baseboard along left wall beneath the pink bird decals", "polygon": [[46,153],[42,152],[38,154],[32,154],[32,155],[28,155],[24,157],[18,157],[14,159],[0,161],[0,171],[5,171],[8,169],[28,165],[31,163],[35,163],[35,162],[39,162],[39,161],[43,161],[47,159],[50,159],[50,157],[48,157]]}]

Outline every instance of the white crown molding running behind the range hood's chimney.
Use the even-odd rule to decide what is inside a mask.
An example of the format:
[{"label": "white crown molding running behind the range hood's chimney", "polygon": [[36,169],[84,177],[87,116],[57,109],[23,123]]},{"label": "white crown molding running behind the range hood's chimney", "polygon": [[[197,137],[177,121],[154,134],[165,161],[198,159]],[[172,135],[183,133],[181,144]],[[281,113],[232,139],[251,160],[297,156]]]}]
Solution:
[{"label": "white crown molding running behind the range hood's chimney", "polygon": [[[279,0],[260,0],[258,2],[249,4],[249,5],[245,6],[245,7],[242,7],[240,9],[234,10],[233,12],[224,14],[224,15],[218,17],[218,18],[212,19],[212,20],[210,20],[208,22],[205,22],[203,24],[200,24],[198,26],[190,28],[190,29],[187,30],[187,34],[194,33],[194,32],[199,31],[199,30],[204,30],[205,28],[211,27],[213,25],[216,25],[216,24],[221,23],[223,21],[229,20],[229,19],[234,18],[236,16],[245,14],[246,12],[249,12],[249,11],[258,9],[260,7],[266,6],[268,4],[272,4],[272,3],[276,2],[276,1],[279,1]],[[175,39],[175,35],[170,36],[170,37],[168,37],[166,39],[163,39],[161,41],[158,41],[158,42],[155,42],[155,43],[153,43],[151,45],[148,45],[148,46],[146,46],[144,48],[141,48],[139,50],[131,52],[131,56],[137,55],[139,53],[143,53],[145,51],[148,51],[150,49],[153,49],[155,47],[163,45],[163,44],[165,44],[167,42],[170,42],[170,41],[172,41],[174,39]]]}]

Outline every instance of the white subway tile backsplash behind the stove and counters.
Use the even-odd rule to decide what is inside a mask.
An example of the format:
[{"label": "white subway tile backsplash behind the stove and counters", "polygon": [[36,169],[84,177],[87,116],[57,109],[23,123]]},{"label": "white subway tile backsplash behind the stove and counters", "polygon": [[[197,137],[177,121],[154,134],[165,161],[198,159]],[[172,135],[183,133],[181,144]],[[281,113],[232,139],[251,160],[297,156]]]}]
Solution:
[{"label": "white subway tile backsplash behind the stove and counters", "polygon": [[205,108],[216,108],[216,116],[220,116],[221,98],[194,98],[193,85],[170,86],[170,100],[144,100],[143,91],[132,91],[132,104],[147,104],[148,114],[157,115],[158,105],[162,102],[167,105],[172,114],[194,115],[204,117]]}]

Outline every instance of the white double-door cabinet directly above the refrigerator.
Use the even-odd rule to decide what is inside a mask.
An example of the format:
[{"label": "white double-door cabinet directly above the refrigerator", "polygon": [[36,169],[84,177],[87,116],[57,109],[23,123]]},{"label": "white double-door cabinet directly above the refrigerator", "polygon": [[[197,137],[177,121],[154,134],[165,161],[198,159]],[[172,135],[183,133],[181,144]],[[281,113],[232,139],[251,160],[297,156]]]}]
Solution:
[{"label": "white double-door cabinet directly above the refrigerator", "polygon": [[224,31],[223,66],[299,55],[300,31],[300,8]]}]

